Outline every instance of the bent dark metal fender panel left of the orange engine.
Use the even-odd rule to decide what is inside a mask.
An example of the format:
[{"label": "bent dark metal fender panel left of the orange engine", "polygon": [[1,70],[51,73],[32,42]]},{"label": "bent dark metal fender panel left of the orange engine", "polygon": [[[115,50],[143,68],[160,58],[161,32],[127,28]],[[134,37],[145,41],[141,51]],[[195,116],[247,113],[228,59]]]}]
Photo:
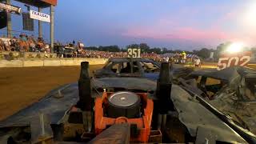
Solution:
[{"label": "bent dark metal fender panel left of the orange engine", "polygon": [[[65,89],[63,89],[63,87]],[[61,97],[59,97],[58,90],[61,90]],[[74,83],[60,86],[50,91],[49,94],[46,94],[46,96],[38,102],[35,102],[31,106],[18,111],[18,113],[0,122],[0,127],[29,126],[30,123],[38,117],[39,112],[48,114],[52,123],[58,123],[66,113],[66,110],[69,110],[76,102],[78,102],[78,84]]]}]

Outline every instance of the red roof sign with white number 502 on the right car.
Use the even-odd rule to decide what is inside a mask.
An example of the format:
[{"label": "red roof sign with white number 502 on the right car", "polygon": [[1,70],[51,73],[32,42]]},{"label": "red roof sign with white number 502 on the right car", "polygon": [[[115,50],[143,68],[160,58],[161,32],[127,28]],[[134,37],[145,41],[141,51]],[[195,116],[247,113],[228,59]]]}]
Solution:
[{"label": "red roof sign with white number 502 on the right car", "polygon": [[250,62],[251,51],[236,54],[222,54],[218,59],[217,70],[223,70],[231,66],[246,66]]}]

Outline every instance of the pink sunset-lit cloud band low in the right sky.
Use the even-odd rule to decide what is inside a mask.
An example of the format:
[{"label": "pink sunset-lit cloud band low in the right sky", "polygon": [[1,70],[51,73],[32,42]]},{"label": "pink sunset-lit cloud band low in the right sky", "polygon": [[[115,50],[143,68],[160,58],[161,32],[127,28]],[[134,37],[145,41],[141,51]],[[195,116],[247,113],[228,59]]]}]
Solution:
[{"label": "pink sunset-lit cloud band low in the right sky", "polygon": [[[161,23],[162,24],[162,23]],[[174,26],[174,23],[171,23]],[[128,38],[153,38],[164,42],[178,40],[179,42],[190,41],[218,45],[221,42],[245,42],[248,45],[254,44],[256,34],[242,31],[222,30],[221,27],[209,29],[199,29],[192,26],[171,27],[171,26],[151,26],[134,27],[122,33]]]}]

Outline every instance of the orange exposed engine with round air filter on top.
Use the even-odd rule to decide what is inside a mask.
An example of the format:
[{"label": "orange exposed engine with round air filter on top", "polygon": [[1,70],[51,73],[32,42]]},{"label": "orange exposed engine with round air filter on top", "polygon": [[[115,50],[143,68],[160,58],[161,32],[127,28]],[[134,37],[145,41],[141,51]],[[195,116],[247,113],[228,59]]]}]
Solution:
[{"label": "orange exposed engine with round air filter on top", "polygon": [[128,91],[103,93],[95,101],[95,134],[119,123],[131,126],[130,142],[148,142],[153,114],[153,101],[147,94]]}]

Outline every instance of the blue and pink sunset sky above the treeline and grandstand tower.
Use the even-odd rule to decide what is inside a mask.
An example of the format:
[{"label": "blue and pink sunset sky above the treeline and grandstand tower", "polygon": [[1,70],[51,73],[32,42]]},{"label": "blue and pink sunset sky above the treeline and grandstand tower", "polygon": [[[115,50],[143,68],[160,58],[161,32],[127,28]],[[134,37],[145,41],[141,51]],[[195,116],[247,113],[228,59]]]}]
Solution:
[{"label": "blue and pink sunset sky above the treeline and grandstand tower", "polygon": [[[13,14],[13,20],[13,29],[22,30],[22,17]],[[49,39],[47,23],[43,30]],[[228,41],[256,46],[256,1],[58,0],[55,39],[86,46],[146,42],[173,50],[216,48]]]}]

